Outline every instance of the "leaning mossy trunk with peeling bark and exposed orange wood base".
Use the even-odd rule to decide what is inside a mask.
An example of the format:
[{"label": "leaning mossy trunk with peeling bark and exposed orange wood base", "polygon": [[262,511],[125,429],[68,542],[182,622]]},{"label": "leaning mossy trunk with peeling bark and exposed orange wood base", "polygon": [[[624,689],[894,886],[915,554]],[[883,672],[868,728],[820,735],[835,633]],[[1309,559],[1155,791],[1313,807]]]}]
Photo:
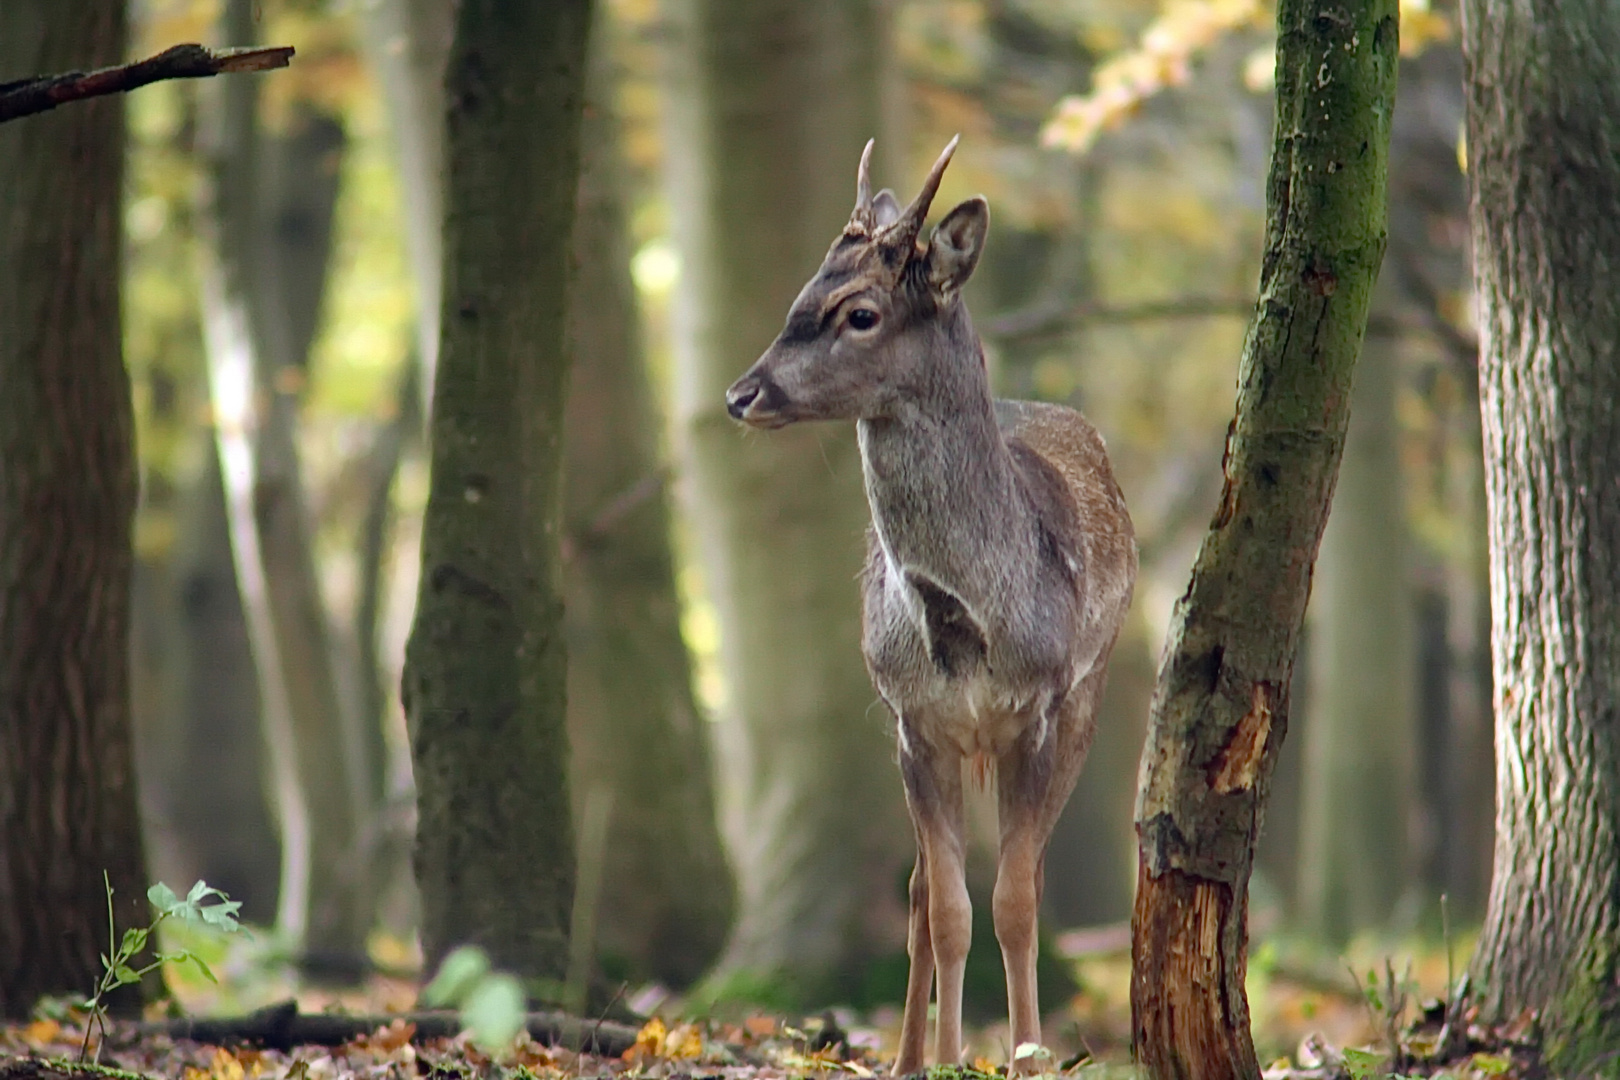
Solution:
[{"label": "leaning mossy trunk with peeling bark and exposed orange wood base", "polygon": [[1132,1044],[1153,1077],[1259,1077],[1249,871],[1385,243],[1396,5],[1285,0],[1277,26],[1260,300],[1136,805]]}]

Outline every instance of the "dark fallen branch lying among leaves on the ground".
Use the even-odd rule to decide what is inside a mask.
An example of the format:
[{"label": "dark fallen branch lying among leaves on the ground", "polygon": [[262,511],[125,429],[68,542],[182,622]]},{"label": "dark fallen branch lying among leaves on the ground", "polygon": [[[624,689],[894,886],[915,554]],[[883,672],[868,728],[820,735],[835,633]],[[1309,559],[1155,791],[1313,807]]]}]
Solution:
[{"label": "dark fallen branch lying among leaves on the ground", "polygon": [[[386,1028],[395,1020],[415,1025],[411,1041],[454,1038],[462,1031],[454,1012],[408,1012],[384,1017],[345,1017],[337,1014],[298,1012],[292,1001],[269,1006],[243,1017],[201,1020],[157,1020],[138,1025],[141,1035],[167,1035],[209,1044],[251,1043],[266,1049],[293,1046],[342,1046]],[[565,1046],[617,1057],[635,1046],[637,1030],[612,1020],[582,1020],[562,1012],[528,1014],[528,1036],[544,1046]]]}]

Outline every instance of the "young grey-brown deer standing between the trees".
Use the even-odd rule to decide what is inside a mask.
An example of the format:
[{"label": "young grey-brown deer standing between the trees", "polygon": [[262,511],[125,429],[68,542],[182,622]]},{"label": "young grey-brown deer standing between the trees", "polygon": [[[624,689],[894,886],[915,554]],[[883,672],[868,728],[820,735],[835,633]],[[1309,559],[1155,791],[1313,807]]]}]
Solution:
[{"label": "young grey-brown deer standing between the trees", "polygon": [[1059,405],[996,400],[962,303],[990,228],[970,198],[919,241],[957,138],[904,209],[872,194],[868,141],[855,209],[787,311],[782,332],[726,392],[755,429],[854,421],[872,528],[862,654],[896,722],[917,836],[910,973],[894,1075],[962,1054],[972,933],[964,787],[993,776],[996,941],[1013,1067],[1040,1067],[1037,913],[1047,845],[1097,729],[1103,677],[1131,606],[1137,552],[1097,429]]}]

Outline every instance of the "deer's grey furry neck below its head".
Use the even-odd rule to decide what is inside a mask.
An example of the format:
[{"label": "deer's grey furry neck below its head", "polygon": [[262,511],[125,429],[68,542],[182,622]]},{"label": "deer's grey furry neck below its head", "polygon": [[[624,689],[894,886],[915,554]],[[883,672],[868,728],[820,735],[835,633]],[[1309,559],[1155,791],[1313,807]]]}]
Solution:
[{"label": "deer's grey furry neck below its head", "polygon": [[1008,593],[1008,559],[1032,534],[1013,455],[996,426],[990,377],[957,300],[920,343],[930,377],[889,416],[859,423],[867,500],[897,576],[923,575],[990,614]]}]

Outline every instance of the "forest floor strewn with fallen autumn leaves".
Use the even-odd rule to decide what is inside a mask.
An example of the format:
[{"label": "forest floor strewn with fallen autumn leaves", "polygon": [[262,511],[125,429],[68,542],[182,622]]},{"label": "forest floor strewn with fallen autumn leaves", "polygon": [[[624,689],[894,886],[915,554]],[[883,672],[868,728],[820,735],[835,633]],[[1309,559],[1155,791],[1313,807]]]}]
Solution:
[{"label": "forest floor strewn with fallen autumn leaves", "polygon": [[[1256,1048],[1267,1080],[1364,1080],[1371,1077],[1537,1077],[1534,1056],[1513,1040],[1473,1030],[1453,1040],[1448,1062],[1434,1061],[1445,1006],[1437,1001],[1448,981],[1442,947],[1416,947],[1372,957],[1375,946],[1349,950],[1353,963],[1324,962],[1319,954],[1285,942],[1264,942],[1251,960],[1249,1002]],[[1047,1014],[1050,1069],[1079,1080],[1134,1077],[1129,1064],[1129,960],[1118,949],[1079,959],[1081,991]],[[177,1010],[190,1015],[240,1015],[272,1001],[296,1001],[303,1015],[390,1017],[415,1007],[418,983],[371,978],[363,988],[332,993],[298,988],[287,972],[253,968],[249,960],[215,959],[217,986],[185,972],[172,973]],[[1361,975],[1351,975],[1351,972]],[[1353,983],[1354,980],[1354,983]],[[630,993],[630,1004],[658,1002],[658,993]],[[624,1009],[624,1002],[619,1006]],[[285,1006],[292,1010],[292,1006]],[[392,1018],[329,1046],[271,1049],[237,1040],[194,1041],[162,1028],[154,1009],[146,1023],[118,1022],[105,1040],[92,1041],[100,1065],[83,1070],[83,1014],[58,1007],[29,1023],[0,1027],[0,1080],[778,1080],[802,1075],[876,1077],[893,1061],[899,1030],[896,1009],[870,1015],[828,1010],[815,1017],[781,1017],[735,1010],[701,1020],[680,1018],[674,999],[654,1004],[654,1015],[633,1023],[595,1023],[595,1038],[611,1052],[580,1052],[518,1036],[491,1059],[465,1036],[426,1038],[407,1018]],[[640,1027],[637,1027],[640,1025]],[[608,1027],[612,1040],[603,1036]],[[1466,1027],[1466,1018],[1463,1022]],[[580,1030],[575,1027],[575,1031]],[[96,1044],[99,1043],[99,1046]],[[575,1036],[573,1046],[588,1044]],[[1398,1046],[1401,1061],[1390,1061]],[[1505,1048],[1505,1049],[1503,1049]],[[964,1080],[1003,1075],[1006,1025],[972,1030],[970,1065]],[[932,1070],[938,1072],[938,1070]]]}]

